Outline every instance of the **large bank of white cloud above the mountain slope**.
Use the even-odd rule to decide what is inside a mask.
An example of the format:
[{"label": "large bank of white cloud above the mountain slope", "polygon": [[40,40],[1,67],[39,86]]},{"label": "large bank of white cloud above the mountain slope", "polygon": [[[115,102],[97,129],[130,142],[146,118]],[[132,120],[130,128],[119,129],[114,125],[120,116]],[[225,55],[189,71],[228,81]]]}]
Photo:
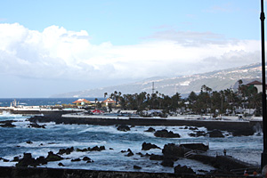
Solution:
[{"label": "large bank of white cloud above the mountain slope", "polygon": [[0,24],[0,73],[84,81],[141,79],[189,75],[260,61],[259,41],[182,31],[158,32],[146,39],[142,44],[95,45],[84,30],[51,26],[39,32],[18,23]]}]

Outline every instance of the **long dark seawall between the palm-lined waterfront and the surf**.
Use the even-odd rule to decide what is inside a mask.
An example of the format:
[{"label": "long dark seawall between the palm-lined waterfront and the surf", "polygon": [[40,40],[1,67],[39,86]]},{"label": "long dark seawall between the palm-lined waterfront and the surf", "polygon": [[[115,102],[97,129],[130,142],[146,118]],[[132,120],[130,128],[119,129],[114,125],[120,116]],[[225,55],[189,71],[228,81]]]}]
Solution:
[{"label": "long dark seawall between the palm-lined waterfront and the surf", "polygon": [[36,116],[29,119],[32,122],[55,122],[57,124],[78,125],[188,125],[204,126],[207,130],[223,130],[242,135],[251,135],[263,127],[262,121],[226,121],[226,120],[198,120],[198,119],[169,119],[169,118],[140,118],[127,119],[108,117],[61,117],[61,115]]}]

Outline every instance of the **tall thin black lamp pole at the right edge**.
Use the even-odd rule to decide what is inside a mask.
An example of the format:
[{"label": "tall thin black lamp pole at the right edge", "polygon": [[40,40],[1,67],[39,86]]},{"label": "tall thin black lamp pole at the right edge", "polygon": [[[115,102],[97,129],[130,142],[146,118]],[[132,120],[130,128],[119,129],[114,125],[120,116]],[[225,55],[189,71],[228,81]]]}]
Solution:
[{"label": "tall thin black lamp pole at the right edge", "polygon": [[265,82],[265,47],[264,47],[264,20],[263,0],[261,0],[261,31],[262,31],[262,74],[263,74],[263,153],[262,153],[262,168],[267,165],[267,122],[266,122],[266,82]]}]

